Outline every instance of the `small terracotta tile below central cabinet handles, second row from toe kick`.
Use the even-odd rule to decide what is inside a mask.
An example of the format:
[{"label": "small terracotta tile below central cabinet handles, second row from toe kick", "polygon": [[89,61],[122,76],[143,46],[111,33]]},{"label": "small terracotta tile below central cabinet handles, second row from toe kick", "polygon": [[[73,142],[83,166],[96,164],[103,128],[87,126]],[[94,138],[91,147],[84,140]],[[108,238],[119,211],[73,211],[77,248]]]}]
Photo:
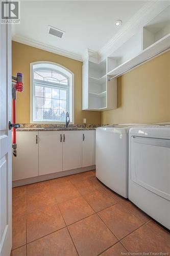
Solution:
[{"label": "small terracotta tile below central cabinet handles, second row from toe kick", "polygon": [[62,187],[53,187],[53,195],[55,196],[57,203],[62,203],[64,201],[80,197],[80,193],[72,184]]}]

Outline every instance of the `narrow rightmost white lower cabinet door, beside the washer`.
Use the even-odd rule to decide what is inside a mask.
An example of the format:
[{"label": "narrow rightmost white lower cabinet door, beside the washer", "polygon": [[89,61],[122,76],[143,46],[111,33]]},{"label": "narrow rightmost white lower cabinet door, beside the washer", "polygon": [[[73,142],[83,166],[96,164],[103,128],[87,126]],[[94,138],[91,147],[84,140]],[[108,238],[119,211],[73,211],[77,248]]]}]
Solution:
[{"label": "narrow rightmost white lower cabinet door, beside the washer", "polygon": [[82,167],[95,164],[95,131],[83,131]]}]

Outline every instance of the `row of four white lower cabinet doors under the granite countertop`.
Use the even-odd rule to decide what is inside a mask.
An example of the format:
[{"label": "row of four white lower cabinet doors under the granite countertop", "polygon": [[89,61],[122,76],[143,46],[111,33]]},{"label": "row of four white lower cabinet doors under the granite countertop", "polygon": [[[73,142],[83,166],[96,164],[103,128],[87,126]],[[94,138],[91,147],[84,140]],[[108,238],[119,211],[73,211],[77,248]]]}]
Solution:
[{"label": "row of four white lower cabinet doors under the granite countertop", "polygon": [[13,181],[95,164],[95,131],[17,131]]}]

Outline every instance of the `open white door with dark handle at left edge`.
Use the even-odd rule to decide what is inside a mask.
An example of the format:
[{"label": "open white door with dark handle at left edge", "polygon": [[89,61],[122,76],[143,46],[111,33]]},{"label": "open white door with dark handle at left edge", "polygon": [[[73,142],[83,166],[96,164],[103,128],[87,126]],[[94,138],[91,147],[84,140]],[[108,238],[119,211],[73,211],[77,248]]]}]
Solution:
[{"label": "open white door with dark handle at left edge", "polygon": [[11,120],[11,26],[0,24],[0,255],[9,256],[12,247],[12,138]]}]

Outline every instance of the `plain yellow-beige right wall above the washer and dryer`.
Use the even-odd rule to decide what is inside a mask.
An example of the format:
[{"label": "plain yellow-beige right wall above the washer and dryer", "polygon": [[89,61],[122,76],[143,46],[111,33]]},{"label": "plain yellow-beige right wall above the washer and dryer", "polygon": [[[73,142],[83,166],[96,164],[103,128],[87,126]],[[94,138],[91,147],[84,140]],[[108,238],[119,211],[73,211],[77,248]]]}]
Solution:
[{"label": "plain yellow-beige right wall above the washer and dryer", "polygon": [[102,123],[170,121],[170,51],[119,77],[117,104]]}]

